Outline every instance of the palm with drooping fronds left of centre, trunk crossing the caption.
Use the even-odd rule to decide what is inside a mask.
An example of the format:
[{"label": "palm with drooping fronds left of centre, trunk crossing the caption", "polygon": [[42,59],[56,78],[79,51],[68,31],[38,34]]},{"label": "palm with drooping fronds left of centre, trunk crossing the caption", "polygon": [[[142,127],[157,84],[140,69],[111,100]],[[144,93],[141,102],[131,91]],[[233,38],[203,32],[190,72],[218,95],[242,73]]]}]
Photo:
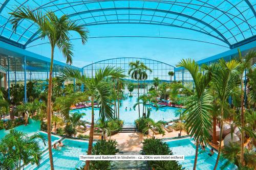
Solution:
[{"label": "palm with drooping fronds left of centre, trunk crossing the caption", "polygon": [[[61,109],[61,113],[65,118],[69,117],[69,110],[74,102],[81,102],[84,101],[84,96],[91,96],[91,106],[92,106],[92,123],[90,129],[90,138],[89,138],[89,147],[88,147],[88,155],[92,154],[92,144],[93,144],[93,133],[94,133],[94,101],[98,102],[99,110],[99,118],[102,122],[105,119],[112,119],[113,118],[113,109],[111,107],[111,90],[109,83],[105,81],[106,78],[109,77],[120,77],[124,78],[125,75],[123,74],[123,70],[121,68],[114,68],[114,67],[106,67],[104,69],[98,69],[95,72],[95,76],[93,78],[87,77],[87,75],[81,75],[79,70],[74,70],[71,68],[66,68],[63,71],[63,75],[58,77],[59,83],[64,82],[67,79],[76,79],[77,82],[84,84],[86,87],[85,92],[77,92],[71,94],[69,98],[65,99],[66,101],[63,102],[63,107]],[[80,98],[80,99],[79,99]],[[89,169],[90,161],[86,161],[86,165],[84,169]]]}]

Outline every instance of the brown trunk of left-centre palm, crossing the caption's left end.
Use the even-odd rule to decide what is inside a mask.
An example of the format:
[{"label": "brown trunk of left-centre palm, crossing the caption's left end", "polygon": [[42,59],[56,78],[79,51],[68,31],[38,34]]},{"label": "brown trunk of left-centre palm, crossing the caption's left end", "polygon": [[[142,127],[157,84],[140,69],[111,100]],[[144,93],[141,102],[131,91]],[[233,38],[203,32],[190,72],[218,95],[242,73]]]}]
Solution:
[{"label": "brown trunk of left-centre palm, crossing the caption's left end", "polygon": [[[93,149],[93,133],[94,133],[94,96],[92,96],[92,123],[91,123],[91,129],[90,129],[90,137],[89,137],[89,146],[88,146],[88,152],[87,155],[92,155],[92,149]],[[84,166],[84,170],[89,169],[90,160],[86,161],[86,165]]]}]

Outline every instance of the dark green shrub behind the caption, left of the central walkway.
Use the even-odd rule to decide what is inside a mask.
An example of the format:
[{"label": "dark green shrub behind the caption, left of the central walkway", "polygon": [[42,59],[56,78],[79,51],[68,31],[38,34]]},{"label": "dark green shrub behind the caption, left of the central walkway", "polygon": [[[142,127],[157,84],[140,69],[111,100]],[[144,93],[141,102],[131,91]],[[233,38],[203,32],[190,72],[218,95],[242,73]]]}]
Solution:
[{"label": "dark green shrub behind the caption, left of the central walkway", "polygon": [[[93,146],[92,155],[115,155],[119,152],[116,140],[99,140]],[[90,161],[90,170],[110,170],[111,161]]]}]

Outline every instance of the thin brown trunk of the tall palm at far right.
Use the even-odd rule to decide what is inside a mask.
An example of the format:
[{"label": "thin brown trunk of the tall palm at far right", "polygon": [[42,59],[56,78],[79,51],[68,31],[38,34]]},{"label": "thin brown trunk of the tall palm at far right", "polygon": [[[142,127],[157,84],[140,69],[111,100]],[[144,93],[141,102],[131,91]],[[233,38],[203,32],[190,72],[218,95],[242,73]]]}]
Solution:
[{"label": "thin brown trunk of the tall palm at far right", "polygon": [[244,162],[244,90],[243,90],[243,75],[241,75],[241,157],[240,163]]}]

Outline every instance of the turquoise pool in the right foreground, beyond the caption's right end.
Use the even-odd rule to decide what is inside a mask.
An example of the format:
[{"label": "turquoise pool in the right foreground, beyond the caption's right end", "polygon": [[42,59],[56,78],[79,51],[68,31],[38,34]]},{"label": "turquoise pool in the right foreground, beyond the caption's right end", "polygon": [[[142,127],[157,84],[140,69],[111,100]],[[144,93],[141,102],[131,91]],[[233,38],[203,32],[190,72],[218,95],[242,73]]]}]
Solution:
[{"label": "turquoise pool in the right foreground, beyond the caption's right end", "polygon": [[[185,160],[179,161],[179,163],[182,164],[183,167],[186,169],[193,169],[194,166],[194,159],[195,159],[195,153],[196,153],[196,146],[194,144],[194,141],[190,138],[185,139],[178,139],[178,140],[170,140],[165,141],[169,148],[173,151],[174,155],[184,155]],[[215,162],[217,159],[217,153],[213,156],[209,156],[209,148],[206,148],[206,152],[202,152],[201,149],[199,149],[198,159],[197,159],[197,169],[204,170],[204,169],[214,169]],[[221,162],[219,161],[217,169],[221,169]]]}]

